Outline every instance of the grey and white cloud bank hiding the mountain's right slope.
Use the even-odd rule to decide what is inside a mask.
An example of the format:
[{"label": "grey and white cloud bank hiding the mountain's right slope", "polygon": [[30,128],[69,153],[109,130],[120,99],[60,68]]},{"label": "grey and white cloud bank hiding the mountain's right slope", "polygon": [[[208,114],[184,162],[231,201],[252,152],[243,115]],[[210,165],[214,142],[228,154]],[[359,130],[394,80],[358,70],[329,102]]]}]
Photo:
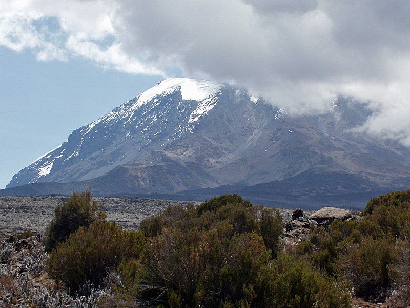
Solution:
[{"label": "grey and white cloud bank hiding the mountain's right slope", "polygon": [[0,45],[39,61],[233,82],[290,112],[353,96],[379,112],[363,129],[410,145],[406,1],[3,1]]}]

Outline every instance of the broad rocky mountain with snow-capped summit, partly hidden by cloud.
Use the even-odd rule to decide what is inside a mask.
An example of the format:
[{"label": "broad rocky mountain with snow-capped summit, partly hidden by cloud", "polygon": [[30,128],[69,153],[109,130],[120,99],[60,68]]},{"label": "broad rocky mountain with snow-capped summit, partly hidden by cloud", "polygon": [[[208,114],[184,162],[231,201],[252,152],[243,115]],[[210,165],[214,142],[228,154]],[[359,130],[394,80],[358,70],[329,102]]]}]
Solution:
[{"label": "broad rocky mountain with snow-capped summit, partly hidden by cloud", "polygon": [[327,113],[291,117],[229,84],[171,78],[74,130],[0,193],[232,191],[265,204],[327,198],[342,205],[351,198],[337,196],[377,194],[410,179],[408,148],[354,129],[371,115],[366,105],[340,97]]}]

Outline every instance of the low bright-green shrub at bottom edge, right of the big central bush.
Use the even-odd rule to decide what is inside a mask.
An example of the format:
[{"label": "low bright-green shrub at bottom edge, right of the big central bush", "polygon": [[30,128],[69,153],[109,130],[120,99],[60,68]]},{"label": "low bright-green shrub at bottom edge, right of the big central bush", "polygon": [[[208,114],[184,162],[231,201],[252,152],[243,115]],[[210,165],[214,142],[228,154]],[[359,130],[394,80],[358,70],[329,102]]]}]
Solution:
[{"label": "low bright-green shrub at bottom edge, right of the big central bush", "polygon": [[261,279],[267,287],[265,307],[350,308],[351,295],[344,282],[321,274],[304,260],[280,254]]}]

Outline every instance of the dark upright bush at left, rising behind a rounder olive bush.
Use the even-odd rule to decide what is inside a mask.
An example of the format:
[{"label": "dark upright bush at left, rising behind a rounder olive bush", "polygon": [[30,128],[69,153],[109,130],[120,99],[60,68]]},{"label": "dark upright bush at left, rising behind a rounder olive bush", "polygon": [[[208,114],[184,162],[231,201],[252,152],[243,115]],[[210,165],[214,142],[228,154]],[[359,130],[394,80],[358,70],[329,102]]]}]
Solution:
[{"label": "dark upright bush at left, rising behind a rounder olive bush", "polygon": [[67,201],[55,208],[54,218],[47,226],[44,240],[48,252],[58,243],[64,242],[79,227],[88,227],[95,221],[106,218],[105,212],[98,211],[97,202],[91,202],[91,198],[90,190],[81,193],[74,191]]}]

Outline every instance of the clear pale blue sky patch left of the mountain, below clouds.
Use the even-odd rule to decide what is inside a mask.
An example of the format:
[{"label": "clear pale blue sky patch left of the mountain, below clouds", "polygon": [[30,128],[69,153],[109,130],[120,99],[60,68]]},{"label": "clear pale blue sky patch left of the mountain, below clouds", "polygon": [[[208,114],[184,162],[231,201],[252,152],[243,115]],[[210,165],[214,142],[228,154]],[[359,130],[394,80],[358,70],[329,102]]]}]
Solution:
[{"label": "clear pale blue sky patch left of the mountain, below clouds", "polygon": [[163,80],[0,47],[0,187],[69,134]]}]

